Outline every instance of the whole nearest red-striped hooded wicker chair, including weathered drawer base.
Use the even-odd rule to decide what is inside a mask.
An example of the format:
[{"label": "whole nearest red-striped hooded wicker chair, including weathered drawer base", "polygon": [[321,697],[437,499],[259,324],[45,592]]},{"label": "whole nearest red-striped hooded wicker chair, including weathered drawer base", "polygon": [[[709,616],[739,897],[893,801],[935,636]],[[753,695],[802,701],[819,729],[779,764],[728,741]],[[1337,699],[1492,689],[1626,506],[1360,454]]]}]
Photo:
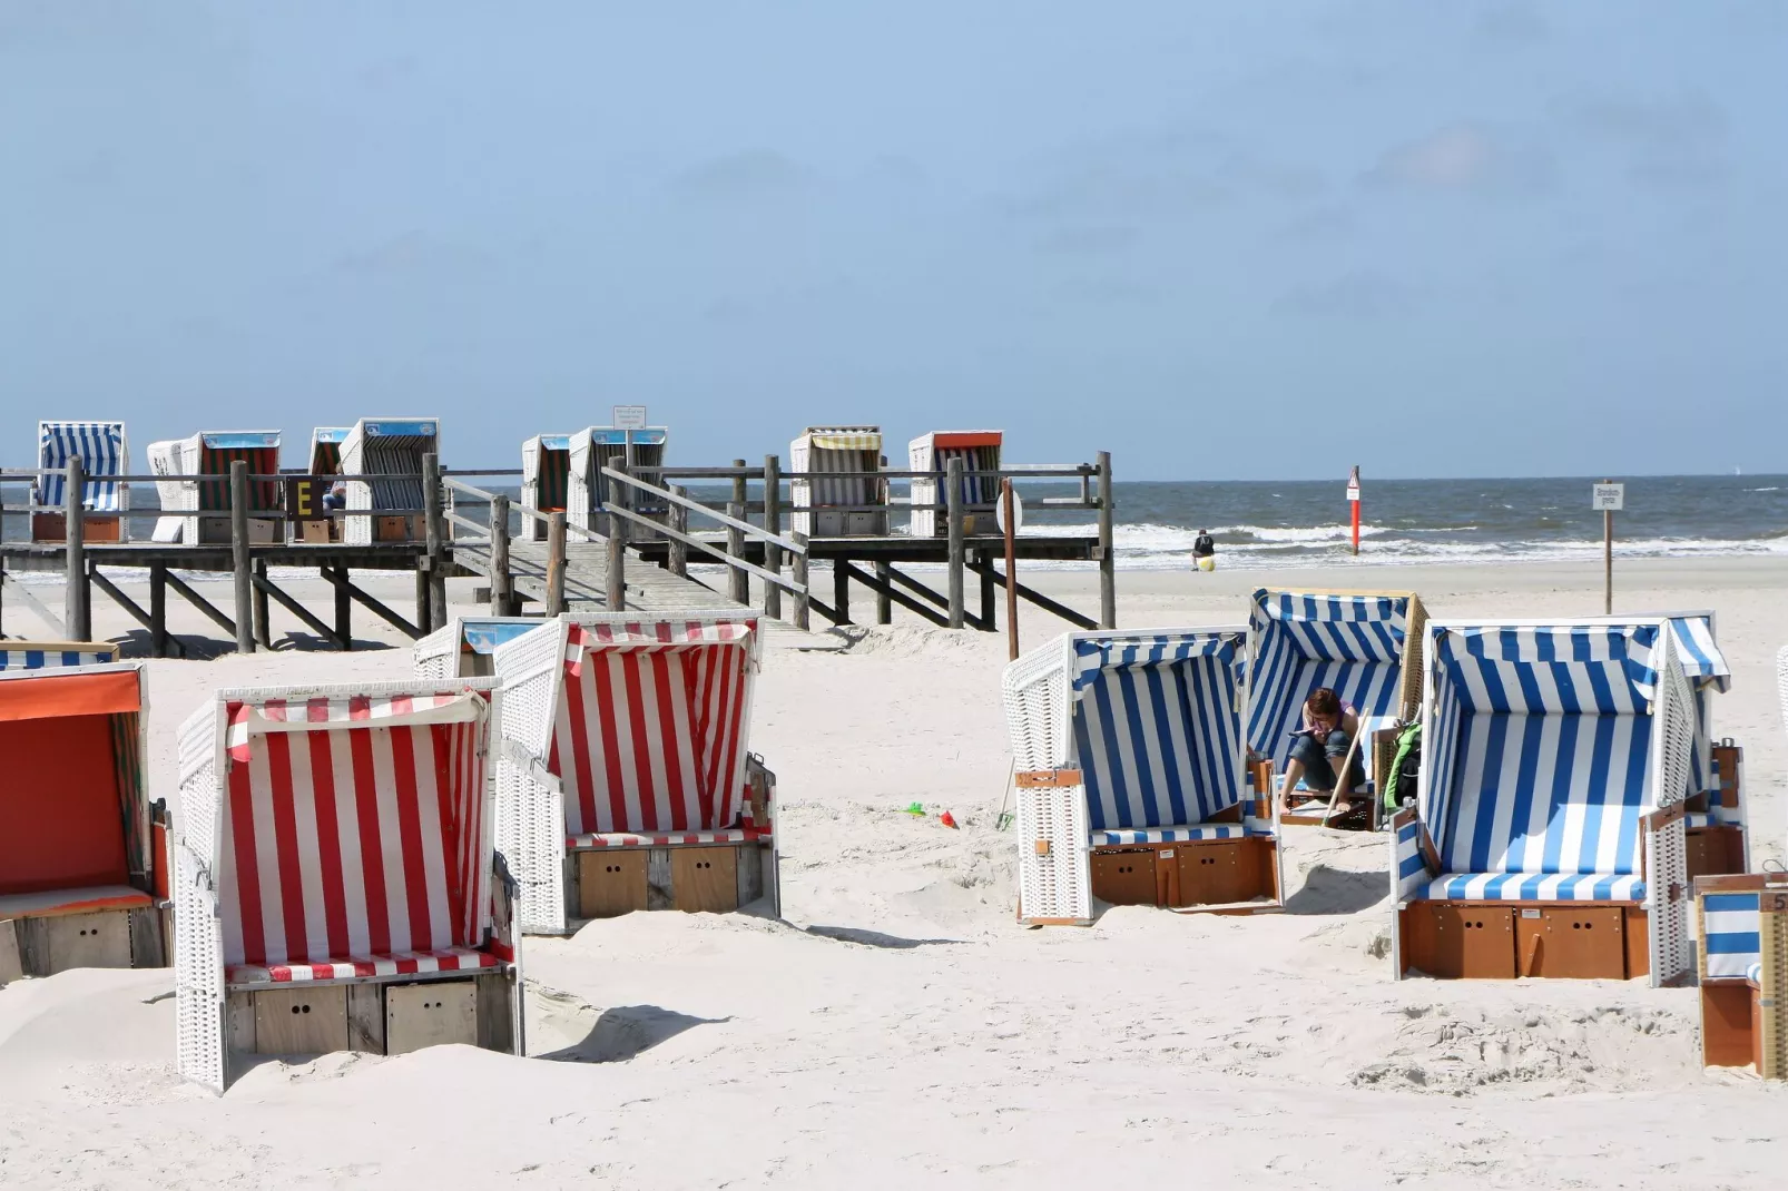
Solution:
[{"label": "whole nearest red-striped hooded wicker chair, including weathered drawer base", "polygon": [[218,690],[181,726],[181,1073],[436,1043],[522,1053],[490,680]]}]

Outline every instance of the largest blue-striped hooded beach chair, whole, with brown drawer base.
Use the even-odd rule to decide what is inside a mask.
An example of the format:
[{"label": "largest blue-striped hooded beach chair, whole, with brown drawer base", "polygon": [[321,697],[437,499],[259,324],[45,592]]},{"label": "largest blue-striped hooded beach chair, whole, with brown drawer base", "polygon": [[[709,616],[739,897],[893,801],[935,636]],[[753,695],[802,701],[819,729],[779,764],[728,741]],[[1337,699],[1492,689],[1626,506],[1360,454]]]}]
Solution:
[{"label": "largest blue-striped hooded beach chair, whole, with brown drawer base", "polygon": [[1423,655],[1396,975],[1684,976],[1695,703],[1670,622],[1436,621]]}]

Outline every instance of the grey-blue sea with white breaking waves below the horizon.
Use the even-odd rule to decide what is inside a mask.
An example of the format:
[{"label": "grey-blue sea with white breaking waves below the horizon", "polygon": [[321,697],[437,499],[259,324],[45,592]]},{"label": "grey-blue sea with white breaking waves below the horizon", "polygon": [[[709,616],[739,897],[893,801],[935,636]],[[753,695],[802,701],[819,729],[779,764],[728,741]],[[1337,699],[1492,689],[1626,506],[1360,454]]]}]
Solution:
[{"label": "grey-blue sea with white breaking waves below the horizon", "polygon": [[[1361,494],[1361,558],[1393,565],[1595,560],[1602,556],[1602,513],[1590,501],[1595,483],[1368,479]],[[1019,494],[1026,501],[1023,533],[1096,533],[1091,510],[1039,503],[1075,495],[1078,485],[1023,483]],[[131,533],[148,540],[154,488],[138,485],[131,495]],[[696,486],[692,495],[717,504],[726,499],[719,488]],[[1227,570],[1302,567],[1350,551],[1346,490],[1330,479],[1119,481],[1114,497],[1119,570],[1185,567],[1200,529],[1210,531]],[[18,540],[25,519],[5,520],[7,540]],[[899,508],[892,520],[899,531]],[[1613,529],[1618,558],[1788,554],[1788,476],[1627,479],[1625,508],[1615,513]]]}]

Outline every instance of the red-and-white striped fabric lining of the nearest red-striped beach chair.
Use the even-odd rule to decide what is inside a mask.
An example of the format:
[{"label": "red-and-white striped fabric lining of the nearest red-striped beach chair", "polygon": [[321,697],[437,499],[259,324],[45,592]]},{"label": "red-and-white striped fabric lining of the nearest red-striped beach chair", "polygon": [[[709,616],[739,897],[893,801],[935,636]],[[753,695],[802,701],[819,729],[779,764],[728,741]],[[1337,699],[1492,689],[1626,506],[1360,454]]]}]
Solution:
[{"label": "red-and-white striped fabric lining of the nearest red-striped beach chair", "polygon": [[[231,705],[218,882],[229,966],[434,955],[483,939],[486,721],[347,728],[322,719],[333,710]],[[250,730],[275,715],[288,715],[283,730]]]}]

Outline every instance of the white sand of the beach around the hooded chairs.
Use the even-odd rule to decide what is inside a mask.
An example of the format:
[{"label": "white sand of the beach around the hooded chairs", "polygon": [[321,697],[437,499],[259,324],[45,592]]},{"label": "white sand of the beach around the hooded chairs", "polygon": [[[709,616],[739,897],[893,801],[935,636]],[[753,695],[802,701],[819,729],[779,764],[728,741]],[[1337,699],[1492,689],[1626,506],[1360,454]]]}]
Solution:
[{"label": "white sand of the beach around the hooded chairs", "polygon": [[[1262,581],[1413,587],[1436,615],[1600,610],[1595,567],[1345,570],[1125,574],[1119,612],[1232,622]],[[1616,601],[1718,612],[1736,674],[1716,730],[1747,749],[1754,862],[1784,835],[1784,579],[1627,563]],[[1085,574],[1035,581],[1091,603]],[[100,617],[127,628],[105,601]],[[0,989],[0,1186],[1788,1180],[1788,1087],[1700,1069],[1693,989],[1393,982],[1380,839],[1289,828],[1280,916],[1017,928],[1014,842],[992,826],[1003,662],[999,638],[912,624],[848,655],[771,653],[753,744],[780,776],[787,921],[637,914],[529,941],[529,1059],[268,1062],[215,1098],[175,1075],[172,973]],[[402,649],[157,662],[156,792],[173,794],[172,730],[209,687],[406,667]],[[915,799],[962,830],[901,814]]]}]

